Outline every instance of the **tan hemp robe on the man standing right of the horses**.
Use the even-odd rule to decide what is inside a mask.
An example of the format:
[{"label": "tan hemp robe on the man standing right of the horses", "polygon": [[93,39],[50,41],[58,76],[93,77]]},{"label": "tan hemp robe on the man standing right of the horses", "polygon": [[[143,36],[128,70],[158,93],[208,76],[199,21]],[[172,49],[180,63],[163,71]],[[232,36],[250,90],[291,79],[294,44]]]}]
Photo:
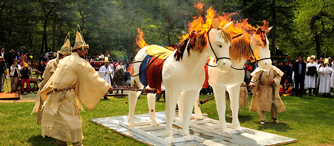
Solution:
[{"label": "tan hemp robe on the man standing right of the horses", "polygon": [[[255,82],[261,75],[261,70],[256,68],[250,75],[253,76],[252,82]],[[276,113],[285,111],[285,106],[279,97],[280,81],[283,72],[275,66],[271,66],[269,75],[263,71],[261,78],[253,83],[255,86],[253,90],[253,98],[250,104],[250,111],[256,112],[260,115],[260,111],[271,111],[272,102],[275,103]],[[266,84],[274,79],[273,85]]]}]

